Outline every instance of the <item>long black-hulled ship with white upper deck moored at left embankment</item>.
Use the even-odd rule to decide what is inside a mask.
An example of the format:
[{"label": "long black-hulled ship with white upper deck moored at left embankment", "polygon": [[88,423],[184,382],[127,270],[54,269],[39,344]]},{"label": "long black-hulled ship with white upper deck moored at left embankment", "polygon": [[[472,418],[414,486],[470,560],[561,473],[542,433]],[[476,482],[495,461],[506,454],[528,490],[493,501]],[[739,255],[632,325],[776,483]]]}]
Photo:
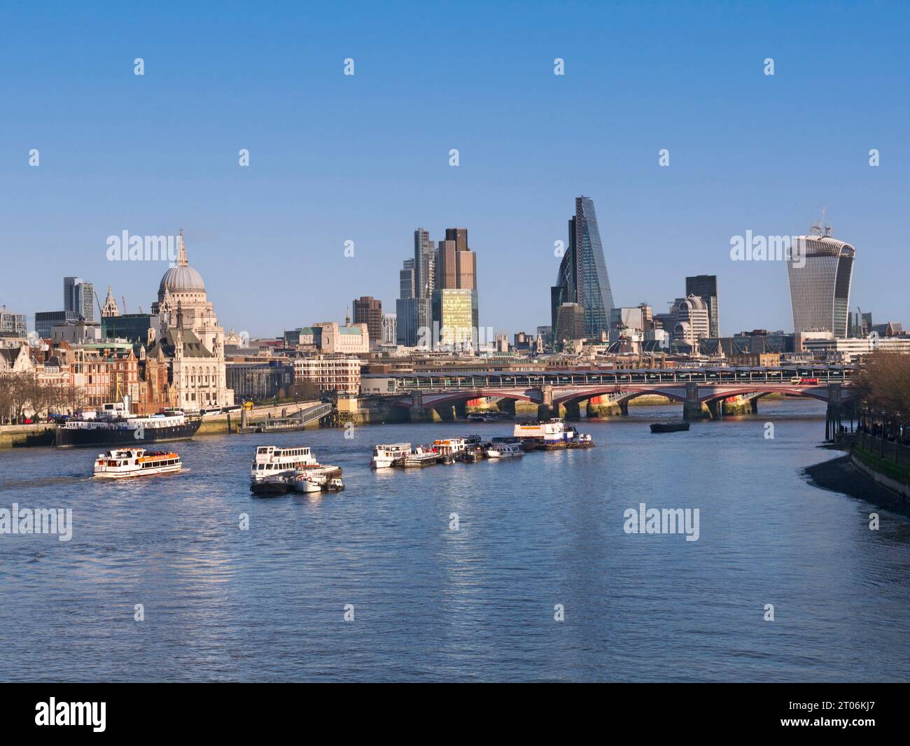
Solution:
[{"label": "long black-hulled ship with white upper deck moored at left embankment", "polygon": [[57,425],[58,449],[82,446],[136,446],[167,440],[185,440],[196,435],[202,418],[189,417],[180,409],[166,409],[156,415],[140,417],[130,412],[129,397],[80,412],[75,418]]}]

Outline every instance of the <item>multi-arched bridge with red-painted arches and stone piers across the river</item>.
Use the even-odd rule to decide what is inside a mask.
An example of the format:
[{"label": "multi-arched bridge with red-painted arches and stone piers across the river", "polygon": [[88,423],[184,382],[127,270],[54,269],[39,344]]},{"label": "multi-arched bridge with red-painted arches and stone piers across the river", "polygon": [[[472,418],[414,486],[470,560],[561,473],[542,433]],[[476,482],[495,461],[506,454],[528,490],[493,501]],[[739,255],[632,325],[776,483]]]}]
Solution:
[{"label": "multi-arched bridge with red-painted arches and stone piers across the river", "polygon": [[[638,368],[602,370],[480,371],[372,373],[360,382],[361,397],[381,398],[387,405],[410,409],[422,421],[435,410],[440,418],[463,416],[471,399],[498,398],[514,410],[515,401],[538,405],[541,418],[556,416],[560,406],[569,416],[582,402],[599,397],[628,414],[633,398],[661,396],[682,402],[685,418],[716,418],[724,399],[739,398],[757,412],[759,398],[789,394],[815,398],[839,412],[853,398],[856,366],[799,364],[775,367]],[[503,406],[505,405],[505,406]],[[705,411],[707,410],[707,411]]]}]

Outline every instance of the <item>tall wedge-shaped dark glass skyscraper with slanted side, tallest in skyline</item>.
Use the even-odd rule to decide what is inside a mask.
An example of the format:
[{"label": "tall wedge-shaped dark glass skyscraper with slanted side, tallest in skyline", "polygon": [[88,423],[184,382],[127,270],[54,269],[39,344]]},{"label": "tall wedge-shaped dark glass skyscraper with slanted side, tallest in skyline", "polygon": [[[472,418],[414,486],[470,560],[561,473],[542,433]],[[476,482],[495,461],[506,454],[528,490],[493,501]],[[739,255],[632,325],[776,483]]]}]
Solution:
[{"label": "tall wedge-shaped dark glass skyscraper with slanted side, tallest in skyline", "polygon": [[584,309],[585,337],[599,337],[609,330],[613,294],[597,215],[589,197],[575,198],[575,215],[569,220],[569,248],[562,257],[556,284],[550,290],[555,343],[565,338],[558,324],[563,303],[577,303]]}]

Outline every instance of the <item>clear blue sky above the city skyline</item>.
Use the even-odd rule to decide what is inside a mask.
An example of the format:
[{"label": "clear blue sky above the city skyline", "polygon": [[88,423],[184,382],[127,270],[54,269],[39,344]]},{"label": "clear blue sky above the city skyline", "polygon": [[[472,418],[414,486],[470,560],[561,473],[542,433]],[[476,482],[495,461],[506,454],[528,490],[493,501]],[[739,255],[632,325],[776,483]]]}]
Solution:
[{"label": "clear blue sky above the city skyline", "polygon": [[790,330],[784,265],[730,240],[824,209],[852,309],[910,323],[908,37],[905,3],[5,2],[0,303],[31,328],[77,275],[148,311],[165,267],[106,237],[183,227],[222,325],[277,336],[394,311],[414,227],[459,226],[481,325],[533,331],[583,194],[619,305],[716,274],[724,335]]}]

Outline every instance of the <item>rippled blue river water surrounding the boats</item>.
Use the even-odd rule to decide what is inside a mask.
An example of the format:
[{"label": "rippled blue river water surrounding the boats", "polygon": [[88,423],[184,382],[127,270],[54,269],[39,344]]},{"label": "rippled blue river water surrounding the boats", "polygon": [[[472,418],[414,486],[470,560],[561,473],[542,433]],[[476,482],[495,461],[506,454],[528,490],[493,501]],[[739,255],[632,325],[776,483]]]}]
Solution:
[{"label": "rippled blue river water surrounding the boats", "polygon": [[[836,455],[815,447],[824,405],[649,432],[679,415],[582,423],[591,450],[388,473],[376,442],[511,426],[199,438],[177,444],[183,473],[119,483],[86,477],[91,449],[0,451],[0,508],[74,514],[68,542],[0,535],[0,679],[910,678],[910,524],[879,510],[871,531],[871,506],[801,476]],[[347,489],[253,498],[260,441],[311,446]],[[625,534],[642,501],[700,509],[700,539]]]}]

